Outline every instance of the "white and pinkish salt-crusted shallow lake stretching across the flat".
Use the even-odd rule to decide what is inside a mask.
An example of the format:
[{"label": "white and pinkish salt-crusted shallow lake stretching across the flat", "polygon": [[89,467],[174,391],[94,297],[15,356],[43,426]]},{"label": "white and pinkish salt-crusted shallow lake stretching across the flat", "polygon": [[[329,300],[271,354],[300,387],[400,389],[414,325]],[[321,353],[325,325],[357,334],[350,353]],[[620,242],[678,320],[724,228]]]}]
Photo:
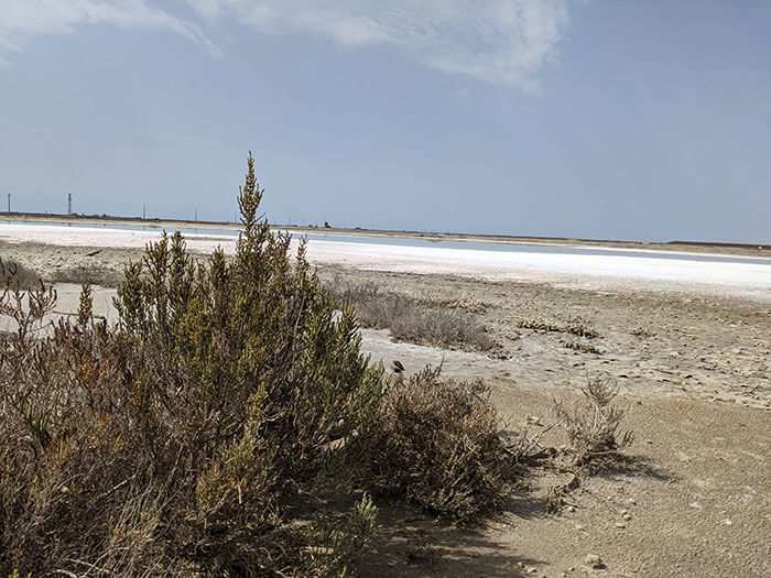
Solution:
[{"label": "white and pinkish salt-crusted shallow lake stretching across the flat", "polygon": [[[175,229],[167,229],[173,232]],[[237,230],[183,228],[191,250],[235,251]],[[77,247],[142,248],[161,229],[143,226],[0,222],[0,240]],[[771,259],[602,247],[529,246],[377,236],[311,233],[310,261],[491,281],[550,282],[584,288],[720,293],[771,301]],[[300,236],[295,236],[296,243]]]}]

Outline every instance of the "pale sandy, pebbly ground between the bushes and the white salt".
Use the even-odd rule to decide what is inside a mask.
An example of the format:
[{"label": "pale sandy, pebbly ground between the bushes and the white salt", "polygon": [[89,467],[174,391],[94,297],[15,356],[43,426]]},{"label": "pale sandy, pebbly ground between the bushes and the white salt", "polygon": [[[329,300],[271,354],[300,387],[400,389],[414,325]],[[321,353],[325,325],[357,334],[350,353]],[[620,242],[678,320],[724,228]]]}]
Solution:
[{"label": "pale sandy, pebbly ground between the bushes and the white salt", "polygon": [[[140,254],[109,243],[0,242],[0,257],[59,281],[89,272],[110,284],[120,264]],[[394,343],[387,331],[367,330],[363,347],[373,360],[400,359],[415,371],[444,358],[448,375],[482,377],[511,428],[529,415],[547,426],[553,396],[576,395],[587,377],[608,377],[629,408],[623,427],[636,434],[625,461],[584,481],[557,513],[549,514],[544,503],[547,488],[560,481],[547,471],[532,472],[507,509],[474,530],[382,502],[383,531],[365,558],[365,576],[771,576],[767,295],[629,279],[602,285],[317,264],[323,279],[372,281],[473,312],[501,345],[490,358]],[[111,291],[96,290],[96,306],[108,316]],[[76,286],[59,284],[59,309],[76,308]],[[576,318],[600,337],[521,327],[523,320]],[[565,345],[577,342],[599,352]],[[630,520],[622,521],[623,511]],[[606,568],[589,569],[587,554],[600,555]]]}]

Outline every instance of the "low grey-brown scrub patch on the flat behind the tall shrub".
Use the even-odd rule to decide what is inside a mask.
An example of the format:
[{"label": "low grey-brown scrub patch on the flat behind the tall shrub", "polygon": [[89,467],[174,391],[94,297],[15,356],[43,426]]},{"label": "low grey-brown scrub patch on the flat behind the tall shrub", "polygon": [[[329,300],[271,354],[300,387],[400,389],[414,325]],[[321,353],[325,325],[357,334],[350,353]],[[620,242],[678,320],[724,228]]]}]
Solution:
[{"label": "low grey-brown scrub patch on the flat behind the tall shrub", "polygon": [[477,317],[459,307],[432,306],[399,293],[382,292],[374,283],[327,283],[338,304],[352,304],[365,327],[390,329],[399,341],[489,352],[500,346]]}]

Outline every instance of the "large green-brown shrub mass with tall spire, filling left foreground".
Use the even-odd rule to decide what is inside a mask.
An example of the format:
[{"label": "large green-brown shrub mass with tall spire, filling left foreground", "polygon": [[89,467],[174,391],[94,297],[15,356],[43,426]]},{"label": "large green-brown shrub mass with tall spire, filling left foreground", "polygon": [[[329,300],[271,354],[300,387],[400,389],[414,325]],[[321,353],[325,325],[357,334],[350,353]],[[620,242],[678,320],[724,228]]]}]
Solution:
[{"label": "large green-brown shrub mass with tall spire, filling left foreground", "polygon": [[368,426],[383,371],[261,198],[250,155],[235,258],[196,265],[164,235],[127,265],[115,329],[94,320],[87,287],[77,323],[45,338],[55,294],[31,292],[28,308],[2,294],[19,330],[0,336],[0,574],[354,569],[370,502],[339,527],[300,522],[318,517],[319,488],[345,490],[335,441]]}]

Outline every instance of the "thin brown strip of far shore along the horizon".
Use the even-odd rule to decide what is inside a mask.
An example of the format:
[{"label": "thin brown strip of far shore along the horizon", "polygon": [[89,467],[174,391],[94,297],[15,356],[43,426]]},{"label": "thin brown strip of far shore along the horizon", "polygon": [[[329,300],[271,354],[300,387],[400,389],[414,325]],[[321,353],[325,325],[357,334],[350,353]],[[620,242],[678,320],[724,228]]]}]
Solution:
[{"label": "thin brown strip of far shore along the horizon", "polygon": [[[142,219],[141,217],[115,217],[110,215],[64,215],[52,212],[2,212],[0,220],[20,222],[72,222],[82,225],[135,225],[156,228],[211,228],[239,230],[240,223],[225,221],[186,220],[186,219]],[[338,227],[300,227],[296,225],[271,223],[271,228],[297,233],[329,233],[351,235],[365,237],[388,237],[404,239],[422,239],[428,241],[475,241],[511,244],[536,246],[568,246],[568,247],[605,247],[613,249],[634,249],[642,251],[674,251],[683,253],[713,253],[747,257],[771,258],[771,244],[750,243],[724,243],[702,241],[618,241],[608,239],[572,239],[558,237],[524,237],[506,235],[479,235],[456,232],[424,232],[424,231],[395,231],[386,229],[338,228]]]}]

